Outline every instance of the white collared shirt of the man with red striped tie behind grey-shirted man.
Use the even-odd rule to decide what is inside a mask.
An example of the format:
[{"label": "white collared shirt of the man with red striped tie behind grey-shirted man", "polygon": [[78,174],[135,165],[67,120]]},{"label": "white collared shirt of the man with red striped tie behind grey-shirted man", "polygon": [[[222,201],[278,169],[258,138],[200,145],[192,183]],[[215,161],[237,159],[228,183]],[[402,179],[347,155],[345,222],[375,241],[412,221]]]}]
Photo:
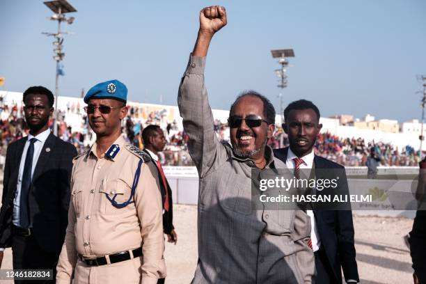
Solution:
[{"label": "white collared shirt of the man with red striped tie behind grey-shirted man", "polygon": [[[285,161],[285,165],[287,166],[287,168],[295,167],[294,158],[297,158],[297,156],[289,147],[288,153],[287,153],[287,161]],[[310,151],[308,155],[305,155],[300,158],[303,159],[303,164],[301,164],[299,168],[312,169],[314,158],[315,158],[315,154],[313,150]],[[310,216],[310,227],[312,228],[312,230],[310,231],[310,239],[312,240],[312,249],[313,251],[318,251],[319,246],[321,246],[321,239],[319,239],[317,223],[315,222],[315,214],[313,210],[306,210],[306,214]]]}]

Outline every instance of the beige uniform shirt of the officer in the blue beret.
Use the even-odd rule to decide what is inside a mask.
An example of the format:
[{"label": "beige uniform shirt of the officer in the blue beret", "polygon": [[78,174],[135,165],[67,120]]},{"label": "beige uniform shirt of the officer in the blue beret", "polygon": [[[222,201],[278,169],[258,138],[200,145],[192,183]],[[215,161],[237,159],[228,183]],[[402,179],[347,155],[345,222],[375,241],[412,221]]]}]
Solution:
[{"label": "beige uniform shirt of the officer in the blue beret", "polygon": [[[111,148],[116,145],[118,148],[113,151],[114,155],[109,157],[107,153],[111,153]],[[143,162],[139,182],[131,198],[139,161],[141,157],[132,152],[131,146],[121,136],[100,157],[97,156],[97,143],[94,143],[89,152],[74,159],[72,200],[65,244],[57,267],[57,283],[70,283],[74,269],[76,273],[97,269],[85,267],[77,260],[77,253],[92,258],[141,246],[142,283],[157,283],[157,278],[164,278],[166,267],[157,170],[154,164]],[[114,198],[116,203],[127,200],[131,203],[123,208],[114,207],[108,197]],[[100,275],[100,271],[90,272],[90,275]]]}]

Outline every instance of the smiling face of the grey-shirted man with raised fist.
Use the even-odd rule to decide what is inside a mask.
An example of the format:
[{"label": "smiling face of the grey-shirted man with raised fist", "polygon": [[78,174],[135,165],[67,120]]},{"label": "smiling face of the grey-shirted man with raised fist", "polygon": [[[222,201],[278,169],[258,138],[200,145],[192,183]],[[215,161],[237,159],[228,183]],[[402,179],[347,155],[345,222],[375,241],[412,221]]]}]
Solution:
[{"label": "smiling face of the grey-shirted man with raised fist", "polygon": [[[260,98],[253,95],[246,95],[240,98],[232,109],[231,116],[240,116],[245,118],[249,115],[263,115],[263,102]],[[248,127],[246,121],[242,121],[240,127],[230,128],[230,140],[232,147],[243,153],[250,153],[255,150],[254,155],[250,158],[256,162],[259,168],[263,168],[266,164],[265,160],[265,144],[267,139],[274,134],[275,125],[268,125],[265,122],[259,127]]]}]

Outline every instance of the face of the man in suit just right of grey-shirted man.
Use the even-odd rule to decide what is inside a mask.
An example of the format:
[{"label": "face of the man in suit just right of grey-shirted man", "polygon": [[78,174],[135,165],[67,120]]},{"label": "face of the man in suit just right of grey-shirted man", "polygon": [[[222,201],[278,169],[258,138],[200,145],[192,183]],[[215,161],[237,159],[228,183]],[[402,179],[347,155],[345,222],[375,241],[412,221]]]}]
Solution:
[{"label": "face of the man in suit just right of grey-shirted man", "polygon": [[297,157],[308,155],[315,145],[322,124],[313,109],[293,109],[283,123],[288,135],[290,149]]}]

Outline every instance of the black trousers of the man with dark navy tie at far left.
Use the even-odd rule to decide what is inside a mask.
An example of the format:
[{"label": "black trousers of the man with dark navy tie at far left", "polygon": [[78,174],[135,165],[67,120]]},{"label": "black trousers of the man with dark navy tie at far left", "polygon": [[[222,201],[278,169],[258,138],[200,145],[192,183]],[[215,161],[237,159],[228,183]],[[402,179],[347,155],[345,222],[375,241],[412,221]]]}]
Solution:
[{"label": "black trousers of the man with dark navy tie at far left", "polygon": [[49,253],[38,245],[33,237],[14,235],[12,241],[13,269],[51,269],[52,280],[15,280],[15,284],[27,283],[56,283],[56,265],[59,253]]}]

